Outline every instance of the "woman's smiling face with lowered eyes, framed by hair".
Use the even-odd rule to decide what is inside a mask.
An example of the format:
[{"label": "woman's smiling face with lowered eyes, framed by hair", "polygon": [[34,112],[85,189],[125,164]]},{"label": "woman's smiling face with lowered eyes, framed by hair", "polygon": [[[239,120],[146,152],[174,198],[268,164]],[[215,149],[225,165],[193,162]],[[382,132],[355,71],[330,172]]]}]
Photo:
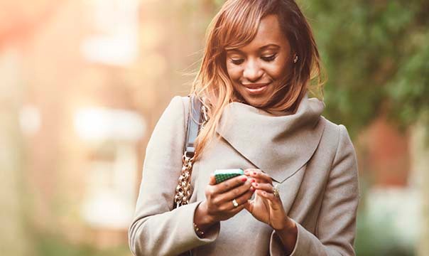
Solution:
[{"label": "woman's smiling face with lowered eyes, framed by hair", "polygon": [[253,41],[227,50],[227,71],[234,90],[254,107],[264,107],[288,73],[290,45],[276,15],[261,19]]}]

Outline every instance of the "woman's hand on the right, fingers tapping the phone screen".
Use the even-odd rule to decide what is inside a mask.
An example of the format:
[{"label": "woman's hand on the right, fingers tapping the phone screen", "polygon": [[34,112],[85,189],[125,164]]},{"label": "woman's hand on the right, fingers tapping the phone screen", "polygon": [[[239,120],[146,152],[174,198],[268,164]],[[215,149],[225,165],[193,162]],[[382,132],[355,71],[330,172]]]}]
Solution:
[{"label": "woman's hand on the right, fingers tapping the phone screen", "polygon": [[270,176],[259,169],[246,169],[244,174],[252,179],[252,187],[256,191],[255,198],[246,204],[246,210],[274,230],[283,230],[288,224],[288,217],[280,197],[273,193],[273,181]]}]

